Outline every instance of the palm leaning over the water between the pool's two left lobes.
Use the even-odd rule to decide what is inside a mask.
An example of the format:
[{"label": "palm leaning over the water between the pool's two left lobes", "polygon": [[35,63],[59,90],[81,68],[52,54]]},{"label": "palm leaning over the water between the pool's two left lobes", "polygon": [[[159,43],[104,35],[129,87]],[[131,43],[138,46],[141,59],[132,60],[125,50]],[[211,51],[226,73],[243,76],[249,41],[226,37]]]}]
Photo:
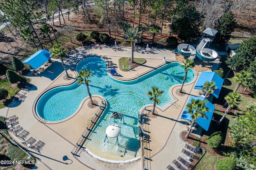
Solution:
[{"label": "palm leaning over the water between the pool's two left lobes", "polygon": [[77,84],[80,85],[83,82],[85,83],[86,88],[87,88],[87,92],[88,92],[90,100],[91,100],[91,103],[92,103],[92,105],[94,105],[94,103],[92,101],[92,95],[90,93],[89,85],[88,85],[91,82],[90,80],[88,80],[88,78],[91,77],[92,71],[91,70],[88,71],[87,69],[84,69],[83,71],[79,70],[78,72],[79,72],[80,75],[76,76],[76,78],[78,79]]}]

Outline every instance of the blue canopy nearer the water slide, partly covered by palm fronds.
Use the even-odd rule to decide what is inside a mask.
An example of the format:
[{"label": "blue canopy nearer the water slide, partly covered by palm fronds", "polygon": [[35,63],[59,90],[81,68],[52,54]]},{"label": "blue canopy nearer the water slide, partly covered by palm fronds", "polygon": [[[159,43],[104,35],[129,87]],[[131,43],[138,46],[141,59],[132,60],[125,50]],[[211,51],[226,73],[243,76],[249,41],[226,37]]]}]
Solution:
[{"label": "blue canopy nearer the water slide, partly covered by palm fronds", "polygon": [[222,84],[224,82],[224,80],[216,73],[214,72],[202,72],[197,83],[195,86],[195,89],[203,89],[204,87],[204,83],[206,81],[214,81],[215,82],[215,86],[217,87],[217,89],[214,89],[212,95],[216,98],[219,97],[220,95],[220,90],[222,88]]}]

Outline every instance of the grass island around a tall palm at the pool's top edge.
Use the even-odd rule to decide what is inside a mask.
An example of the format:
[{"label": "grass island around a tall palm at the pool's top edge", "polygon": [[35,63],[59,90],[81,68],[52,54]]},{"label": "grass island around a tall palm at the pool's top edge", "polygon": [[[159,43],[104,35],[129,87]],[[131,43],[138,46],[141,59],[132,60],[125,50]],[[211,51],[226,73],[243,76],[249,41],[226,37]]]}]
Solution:
[{"label": "grass island around a tall palm at the pool's top edge", "polygon": [[[130,67],[130,65],[129,65],[130,60],[128,60],[129,58],[130,57],[122,57],[122,58],[119,59],[119,67],[122,71],[129,71],[129,67]],[[134,62],[135,63],[131,64],[130,69],[133,69],[134,67],[136,67],[138,65],[142,65],[142,64],[146,63],[146,59],[144,59],[144,58],[135,58],[134,57]],[[124,65],[124,69],[123,69],[123,65]]]}]

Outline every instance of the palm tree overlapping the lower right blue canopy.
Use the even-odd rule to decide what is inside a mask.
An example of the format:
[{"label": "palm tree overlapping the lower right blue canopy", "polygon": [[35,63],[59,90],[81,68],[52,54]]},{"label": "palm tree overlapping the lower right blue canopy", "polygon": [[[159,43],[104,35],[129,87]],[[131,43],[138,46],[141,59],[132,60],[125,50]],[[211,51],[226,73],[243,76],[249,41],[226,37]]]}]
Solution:
[{"label": "palm tree overlapping the lower right blue canopy", "polygon": [[186,134],[186,138],[188,138],[192,127],[194,126],[196,120],[199,117],[208,119],[207,115],[205,114],[206,112],[210,111],[208,107],[206,107],[206,102],[207,100],[196,100],[196,99],[191,99],[191,102],[188,103],[186,106],[187,113],[191,115],[192,121],[190,123],[190,128],[188,129],[188,133]]}]

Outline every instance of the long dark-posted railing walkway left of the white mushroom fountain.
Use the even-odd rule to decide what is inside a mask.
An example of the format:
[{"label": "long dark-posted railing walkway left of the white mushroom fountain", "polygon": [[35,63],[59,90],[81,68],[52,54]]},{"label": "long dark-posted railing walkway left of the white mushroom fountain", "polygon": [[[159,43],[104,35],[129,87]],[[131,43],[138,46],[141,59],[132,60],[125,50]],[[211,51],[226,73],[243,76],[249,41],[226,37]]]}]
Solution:
[{"label": "long dark-posted railing walkway left of the white mushroom fountain", "polygon": [[76,142],[76,146],[74,146],[73,150],[71,151],[71,154],[77,154],[77,152],[80,150],[80,148],[84,148],[83,144],[88,138],[92,128],[97,123],[98,119],[100,118],[101,114],[103,113],[104,109],[106,108],[106,103],[103,103],[101,101],[101,104],[99,105],[97,111],[94,113],[93,118],[90,120],[90,123],[88,126],[86,126],[86,129],[81,134],[80,138]]}]

